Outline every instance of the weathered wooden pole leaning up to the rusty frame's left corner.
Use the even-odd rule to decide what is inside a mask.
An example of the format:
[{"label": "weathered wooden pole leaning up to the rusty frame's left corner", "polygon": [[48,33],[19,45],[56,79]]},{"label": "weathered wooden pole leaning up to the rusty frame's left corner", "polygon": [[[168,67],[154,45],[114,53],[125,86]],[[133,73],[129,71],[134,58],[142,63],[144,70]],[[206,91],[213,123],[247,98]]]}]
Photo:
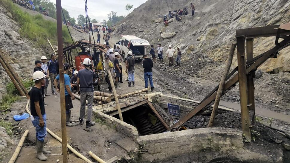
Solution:
[{"label": "weathered wooden pole leaning up to the rusty frame's left corner", "polygon": [[219,107],[219,101],[221,100],[222,92],[224,90],[225,81],[227,79],[228,73],[229,73],[231,65],[232,65],[233,53],[235,52],[235,49],[236,49],[236,42],[233,42],[231,44],[230,53],[229,53],[228,59],[226,61],[227,63],[225,65],[225,72],[222,75],[222,79],[221,79],[221,82],[219,84],[219,89],[216,93],[216,100],[214,101],[213,110],[211,112],[210,121],[208,122],[207,127],[213,126],[213,121],[214,121],[214,118],[216,116],[216,111],[218,110],[218,107]]}]

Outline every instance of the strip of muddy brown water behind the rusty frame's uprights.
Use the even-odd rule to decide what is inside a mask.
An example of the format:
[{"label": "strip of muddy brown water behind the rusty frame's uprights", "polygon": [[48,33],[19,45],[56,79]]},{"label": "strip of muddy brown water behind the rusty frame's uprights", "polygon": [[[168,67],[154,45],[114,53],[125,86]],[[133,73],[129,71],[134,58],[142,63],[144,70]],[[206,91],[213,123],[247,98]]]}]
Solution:
[{"label": "strip of muddy brown water behind the rusty frame's uprights", "polygon": [[[228,107],[228,108],[235,109],[235,110],[241,110],[241,105],[238,104],[238,103],[227,102],[227,101],[222,101],[221,100],[219,102],[219,104],[223,105],[225,107]],[[273,119],[278,119],[278,120],[290,123],[290,116],[289,115],[282,114],[282,113],[277,113],[277,112],[265,109],[265,108],[257,106],[257,105],[255,106],[255,111],[256,111],[257,115],[264,116],[264,117],[269,117],[269,118],[273,118]]]}]

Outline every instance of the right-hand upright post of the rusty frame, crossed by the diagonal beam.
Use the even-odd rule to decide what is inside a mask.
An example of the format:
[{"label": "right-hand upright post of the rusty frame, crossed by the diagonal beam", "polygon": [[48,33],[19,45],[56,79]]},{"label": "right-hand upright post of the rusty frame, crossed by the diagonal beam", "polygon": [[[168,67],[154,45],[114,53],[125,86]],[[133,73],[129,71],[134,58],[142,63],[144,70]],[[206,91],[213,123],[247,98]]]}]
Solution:
[{"label": "right-hand upright post of the rusty frame, crossed by the diagonal beam", "polygon": [[[253,59],[253,43],[254,38],[246,39],[246,52],[247,52],[247,61]],[[255,122],[255,86],[254,86],[254,76],[255,72],[252,71],[247,75],[247,83],[248,83],[248,109],[250,111],[251,124]]]}]

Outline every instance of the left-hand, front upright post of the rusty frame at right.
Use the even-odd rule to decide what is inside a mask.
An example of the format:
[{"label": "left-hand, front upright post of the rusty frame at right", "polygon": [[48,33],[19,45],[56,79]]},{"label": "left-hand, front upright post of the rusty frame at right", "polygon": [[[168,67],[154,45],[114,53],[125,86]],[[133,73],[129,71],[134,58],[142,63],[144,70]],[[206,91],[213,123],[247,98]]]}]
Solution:
[{"label": "left-hand, front upright post of the rusty frame at right", "polygon": [[237,37],[237,59],[238,59],[238,76],[241,102],[241,120],[243,136],[246,141],[251,142],[250,119],[248,110],[248,85],[247,71],[245,60],[245,38]]}]

